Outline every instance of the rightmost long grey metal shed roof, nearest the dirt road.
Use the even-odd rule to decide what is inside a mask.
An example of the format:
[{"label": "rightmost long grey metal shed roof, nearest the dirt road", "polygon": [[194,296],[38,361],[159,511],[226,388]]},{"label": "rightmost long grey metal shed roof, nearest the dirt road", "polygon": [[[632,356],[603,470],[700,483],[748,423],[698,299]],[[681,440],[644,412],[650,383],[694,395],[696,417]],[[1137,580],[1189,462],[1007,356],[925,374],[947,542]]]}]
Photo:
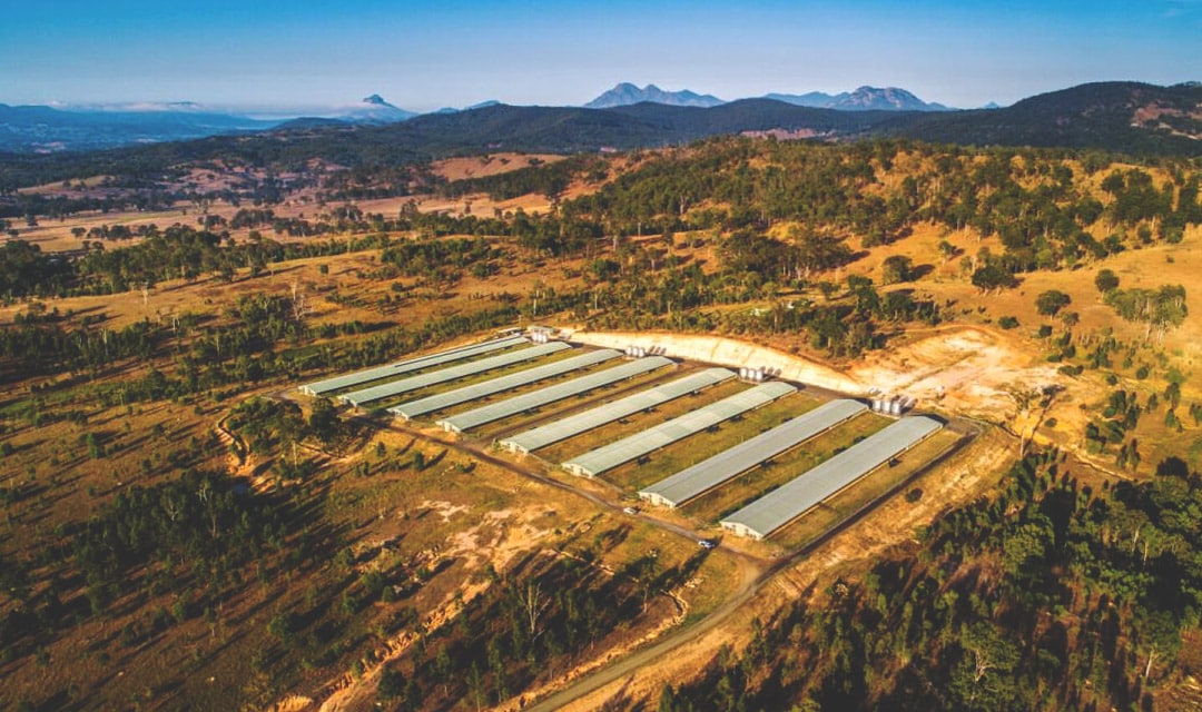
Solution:
[{"label": "rightmost long grey metal shed roof, nearest the dirt road", "polygon": [[941,427],[923,415],[903,418],[727,516],[722,527],[756,539],[768,537]]}]

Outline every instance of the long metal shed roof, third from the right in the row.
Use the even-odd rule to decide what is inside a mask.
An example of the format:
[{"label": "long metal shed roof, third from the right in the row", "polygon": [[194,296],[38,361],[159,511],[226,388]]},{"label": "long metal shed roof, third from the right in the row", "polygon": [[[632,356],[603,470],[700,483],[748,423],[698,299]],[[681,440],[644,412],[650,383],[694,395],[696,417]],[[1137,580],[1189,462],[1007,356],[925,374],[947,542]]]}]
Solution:
[{"label": "long metal shed roof, third from the right in the row", "polygon": [[613,469],[624,462],[642,457],[653,450],[670,445],[690,435],[701,432],[710,425],[728,420],[740,413],[758,408],[766,403],[795,393],[797,388],[781,381],[761,383],[755,388],[725,397],[716,403],[697,408],[660,423],[650,430],[635,433],[615,443],[600,447],[564,462],[564,469],[573,474],[596,477],[607,469]]}]

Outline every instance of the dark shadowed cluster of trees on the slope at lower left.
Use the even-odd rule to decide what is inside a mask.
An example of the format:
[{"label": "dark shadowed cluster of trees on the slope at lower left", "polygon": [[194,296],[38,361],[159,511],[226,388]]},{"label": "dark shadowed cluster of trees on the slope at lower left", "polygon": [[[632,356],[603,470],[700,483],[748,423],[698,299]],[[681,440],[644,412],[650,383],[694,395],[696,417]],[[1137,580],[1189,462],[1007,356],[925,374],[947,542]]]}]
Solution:
[{"label": "dark shadowed cluster of trees on the slope at lower left", "polygon": [[[30,562],[4,561],[8,604],[0,611],[0,656],[28,654],[56,630],[171,594],[168,614],[131,622],[121,642],[136,645],[167,627],[213,611],[255,570],[302,561],[292,537],[291,504],[255,493],[225,474],[186,469],[154,486],[131,486],[85,521],[65,523],[56,544]],[[36,567],[50,567],[48,586],[34,586]],[[41,574],[38,574],[41,575]]]}]

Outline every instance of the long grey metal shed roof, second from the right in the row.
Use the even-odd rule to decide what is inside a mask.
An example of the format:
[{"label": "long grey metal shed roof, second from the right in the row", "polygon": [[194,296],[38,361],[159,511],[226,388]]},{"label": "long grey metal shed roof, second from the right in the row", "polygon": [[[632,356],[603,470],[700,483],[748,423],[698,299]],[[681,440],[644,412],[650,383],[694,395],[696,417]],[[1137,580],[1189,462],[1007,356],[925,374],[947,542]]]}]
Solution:
[{"label": "long grey metal shed roof, second from the right in the row", "polygon": [[868,411],[853,400],[837,400],[744,441],[692,467],[661,479],[638,492],[643,499],[667,507],[679,507],[709,490],[734,479],[766,460],[821,435]]}]

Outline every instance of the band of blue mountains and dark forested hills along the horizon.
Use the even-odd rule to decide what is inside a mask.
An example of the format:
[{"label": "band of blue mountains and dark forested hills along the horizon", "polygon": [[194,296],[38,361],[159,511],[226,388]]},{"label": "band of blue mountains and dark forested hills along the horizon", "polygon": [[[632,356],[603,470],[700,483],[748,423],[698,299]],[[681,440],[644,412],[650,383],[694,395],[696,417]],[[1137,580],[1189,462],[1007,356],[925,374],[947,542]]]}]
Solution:
[{"label": "band of blue mountains and dark forested hills along the horizon", "polygon": [[[642,94],[653,89],[635,88]],[[698,96],[690,95],[678,100],[692,101]],[[105,142],[115,145],[121,140],[165,142],[173,140],[172,136],[194,137],[204,132],[256,132],[257,137],[237,140],[215,136],[203,142],[163,144],[153,152],[155,161],[178,162],[246,152],[254,160],[326,156],[340,164],[355,164],[368,160],[399,162],[482,150],[572,152],[655,148],[707,136],[746,133],[826,142],[899,137],[974,145],[1202,155],[1200,84],[1084,84],[1034,96],[1007,108],[975,110],[933,110],[933,104],[924,104],[927,109],[905,108],[922,102],[897,89],[865,88],[846,96],[789,96],[791,101],[786,102],[776,95],[712,107],[642,101],[603,109],[486,102],[477,108],[423,114],[403,121],[388,121],[387,118],[409,112],[371,96],[357,112],[282,125],[207,114],[195,107],[174,113],[151,107],[136,113],[135,118],[131,116],[133,112],[79,113],[49,107],[0,106],[0,150],[26,154],[85,150],[101,148]],[[803,106],[803,102],[820,101],[843,108]],[[851,106],[870,108],[849,108]],[[883,108],[886,106],[889,108]],[[117,162],[118,158],[120,156],[113,155],[106,160]]]}]

